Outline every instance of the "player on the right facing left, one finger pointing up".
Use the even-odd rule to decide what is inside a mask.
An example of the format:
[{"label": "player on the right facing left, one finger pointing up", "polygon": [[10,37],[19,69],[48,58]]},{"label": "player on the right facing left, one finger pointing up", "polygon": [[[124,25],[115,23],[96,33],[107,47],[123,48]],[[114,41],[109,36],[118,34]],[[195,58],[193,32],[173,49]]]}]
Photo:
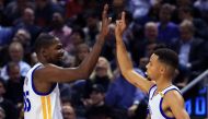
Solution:
[{"label": "player on the right facing left, one finger pointing up", "polygon": [[125,12],[123,12],[122,20],[116,21],[115,28],[118,66],[127,81],[149,93],[151,119],[189,119],[184,109],[184,99],[180,90],[172,84],[178,63],[177,55],[166,48],[155,50],[147,64],[147,75],[151,80],[148,81],[132,69],[132,63],[122,39],[125,28]]}]

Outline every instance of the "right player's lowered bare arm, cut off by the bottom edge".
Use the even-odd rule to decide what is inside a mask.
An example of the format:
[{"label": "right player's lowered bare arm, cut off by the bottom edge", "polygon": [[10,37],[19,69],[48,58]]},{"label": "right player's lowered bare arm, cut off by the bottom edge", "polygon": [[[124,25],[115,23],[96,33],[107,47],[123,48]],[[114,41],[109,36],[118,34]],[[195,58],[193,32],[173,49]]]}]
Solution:
[{"label": "right player's lowered bare arm, cut off by the bottom edge", "polygon": [[166,93],[164,100],[171,108],[175,119],[189,119],[189,116],[184,108],[184,99],[177,91]]}]

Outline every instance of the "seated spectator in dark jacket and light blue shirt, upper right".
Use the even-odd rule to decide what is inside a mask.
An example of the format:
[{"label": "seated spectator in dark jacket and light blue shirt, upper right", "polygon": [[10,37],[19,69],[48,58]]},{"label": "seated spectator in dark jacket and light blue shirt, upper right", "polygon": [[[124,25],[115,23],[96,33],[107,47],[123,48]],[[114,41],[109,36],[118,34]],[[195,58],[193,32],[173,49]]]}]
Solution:
[{"label": "seated spectator in dark jacket and light blue shirt, upper right", "polygon": [[[180,24],[181,37],[172,44],[172,48],[178,53],[180,58],[180,73],[183,81],[175,80],[183,83],[185,86],[187,82],[200,74],[207,69],[207,44],[197,37],[194,37],[194,24],[185,20]],[[186,79],[186,80],[185,80]],[[189,81],[187,81],[189,79]]]}]

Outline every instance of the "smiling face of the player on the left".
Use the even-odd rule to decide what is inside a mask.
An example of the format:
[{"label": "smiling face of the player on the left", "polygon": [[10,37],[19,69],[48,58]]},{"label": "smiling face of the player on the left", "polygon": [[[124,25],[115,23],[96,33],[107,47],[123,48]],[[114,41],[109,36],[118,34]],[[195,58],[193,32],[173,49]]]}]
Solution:
[{"label": "smiling face of the player on the left", "polygon": [[47,49],[47,61],[49,63],[59,64],[63,58],[62,44],[58,38],[54,39],[54,44]]}]

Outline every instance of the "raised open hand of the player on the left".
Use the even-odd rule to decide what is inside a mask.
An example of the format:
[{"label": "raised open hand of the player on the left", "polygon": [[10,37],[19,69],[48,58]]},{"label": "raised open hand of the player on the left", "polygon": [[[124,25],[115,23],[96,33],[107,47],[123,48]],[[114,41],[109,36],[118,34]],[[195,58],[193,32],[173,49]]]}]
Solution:
[{"label": "raised open hand of the player on the left", "polygon": [[103,13],[102,13],[102,27],[101,27],[101,35],[103,37],[105,37],[107,35],[107,33],[108,33],[108,25],[109,25],[109,23],[112,21],[112,17],[107,16],[107,10],[108,10],[108,5],[105,4]]}]

